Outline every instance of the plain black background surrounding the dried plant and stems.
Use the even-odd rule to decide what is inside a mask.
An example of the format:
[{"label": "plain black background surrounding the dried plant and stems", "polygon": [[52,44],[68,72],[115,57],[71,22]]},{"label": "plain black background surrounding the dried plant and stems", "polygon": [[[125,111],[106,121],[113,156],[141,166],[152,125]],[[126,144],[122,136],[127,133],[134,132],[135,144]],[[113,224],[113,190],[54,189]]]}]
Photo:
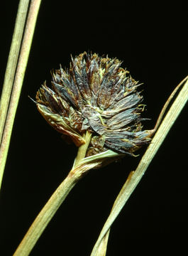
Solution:
[{"label": "plain black background surrounding the dried plant and stems", "polygon": [[[0,255],[12,255],[42,206],[70,170],[77,149],[37,112],[28,95],[50,70],[84,50],[123,60],[144,82],[145,129],[187,75],[187,1],[43,1],[23,83],[1,188]],[[167,4],[168,3],[168,4]],[[18,1],[1,4],[1,85]],[[139,151],[143,155],[145,149]],[[90,171],[62,204],[31,252],[89,255],[111,206],[140,156]],[[107,255],[161,255],[186,250],[187,107],[114,223]]]}]

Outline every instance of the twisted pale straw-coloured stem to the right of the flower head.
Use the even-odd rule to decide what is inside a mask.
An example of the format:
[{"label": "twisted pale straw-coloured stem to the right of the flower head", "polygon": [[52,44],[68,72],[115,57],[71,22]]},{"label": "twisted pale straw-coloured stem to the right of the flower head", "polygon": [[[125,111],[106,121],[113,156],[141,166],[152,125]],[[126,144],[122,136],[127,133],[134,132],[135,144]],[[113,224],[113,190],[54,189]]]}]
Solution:
[{"label": "twisted pale straw-coloured stem to the right of the flower head", "polygon": [[[160,124],[160,127],[158,128],[155,136],[153,137],[150,146],[148,146],[147,151],[145,151],[143,158],[138,164],[136,171],[131,172],[131,174],[128,176],[126,183],[123,185],[123,188],[121,188],[121,191],[118,194],[116,201],[114,202],[114,206],[111,210],[109,218],[107,218],[106,223],[104,224],[104,227],[101,230],[99,238],[96,241],[96,244],[94,245],[94,249],[92,250],[91,256],[106,255],[106,233],[109,232],[112,223],[114,223],[114,220],[120,213],[125,203],[128,201],[128,198],[135,190],[136,186],[140,182],[140,179],[143,177],[143,174],[145,174],[146,169],[148,168],[150,162],[157,153],[157,150],[160,148],[160,145],[167,136],[167,133],[170,131],[170,128],[172,127],[175,120],[179,116],[179,113],[182,111],[187,100],[188,80],[185,82],[184,87],[182,87],[182,90],[179,92],[179,95],[176,97],[175,101],[170,107],[170,110],[167,112],[164,120],[162,121],[162,124]],[[104,248],[102,245],[104,246]],[[103,254],[101,254],[101,250],[103,251]]]}]

